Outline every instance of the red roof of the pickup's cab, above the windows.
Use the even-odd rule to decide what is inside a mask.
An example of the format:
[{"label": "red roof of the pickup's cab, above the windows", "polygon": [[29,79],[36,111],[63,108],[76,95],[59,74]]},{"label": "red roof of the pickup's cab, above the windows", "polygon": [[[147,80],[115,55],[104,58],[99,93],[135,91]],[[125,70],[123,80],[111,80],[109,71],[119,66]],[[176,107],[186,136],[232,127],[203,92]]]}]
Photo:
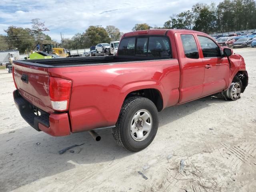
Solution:
[{"label": "red roof of the pickup's cab, above the windows", "polygon": [[207,35],[206,33],[203,33],[200,31],[186,30],[186,29],[149,29],[149,30],[141,30],[141,31],[125,33],[123,38],[128,36],[138,36],[138,35],[166,35],[167,32],[170,32],[171,34],[174,34],[176,32],[190,32],[190,33],[200,33],[200,34]]}]

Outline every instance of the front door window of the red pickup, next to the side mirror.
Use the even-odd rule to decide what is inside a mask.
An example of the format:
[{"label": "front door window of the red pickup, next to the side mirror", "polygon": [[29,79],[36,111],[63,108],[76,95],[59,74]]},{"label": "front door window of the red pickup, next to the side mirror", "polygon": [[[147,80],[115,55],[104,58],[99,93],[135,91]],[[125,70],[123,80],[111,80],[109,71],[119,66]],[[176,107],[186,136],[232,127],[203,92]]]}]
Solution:
[{"label": "front door window of the red pickup, next to the side mirror", "polygon": [[204,36],[198,36],[198,40],[205,58],[220,57],[220,48],[213,40]]}]

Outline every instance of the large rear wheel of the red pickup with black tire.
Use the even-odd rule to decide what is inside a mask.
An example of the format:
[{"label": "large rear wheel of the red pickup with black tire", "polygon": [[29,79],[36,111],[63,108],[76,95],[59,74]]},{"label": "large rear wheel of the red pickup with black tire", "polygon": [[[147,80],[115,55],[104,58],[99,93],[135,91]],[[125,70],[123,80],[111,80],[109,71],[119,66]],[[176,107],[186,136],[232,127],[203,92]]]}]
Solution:
[{"label": "large rear wheel of the red pickup with black tire", "polygon": [[158,110],[143,97],[124,101],[112,134],[116,143],[131,152],[143,150],[154,140],[158,130]]}]

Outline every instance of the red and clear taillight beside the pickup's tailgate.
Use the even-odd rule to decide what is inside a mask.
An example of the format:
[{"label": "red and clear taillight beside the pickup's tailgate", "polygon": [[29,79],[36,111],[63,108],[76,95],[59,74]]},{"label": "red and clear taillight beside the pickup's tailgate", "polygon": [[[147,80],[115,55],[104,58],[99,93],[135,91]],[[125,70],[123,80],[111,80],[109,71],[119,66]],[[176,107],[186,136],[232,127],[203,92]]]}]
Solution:
[{"label": "red and clear taillight beside the pickup's tailgate", "polygon": [[72,81],[58,77],[50,77],[49,95],[52,108],[57,111],[68,110]]}]

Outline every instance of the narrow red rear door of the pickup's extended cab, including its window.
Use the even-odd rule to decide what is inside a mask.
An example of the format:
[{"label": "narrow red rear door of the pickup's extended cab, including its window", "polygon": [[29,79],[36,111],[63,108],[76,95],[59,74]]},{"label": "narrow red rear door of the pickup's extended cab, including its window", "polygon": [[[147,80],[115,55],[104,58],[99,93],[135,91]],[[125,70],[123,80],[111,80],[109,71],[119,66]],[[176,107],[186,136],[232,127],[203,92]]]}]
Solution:
[{"label": "narrow red rear door of the pickup's extended cab, including its window", "polygon": [[180,63],[179,103],[199,98],[203,91],[204,64],[193,33],[175,33]]}]

